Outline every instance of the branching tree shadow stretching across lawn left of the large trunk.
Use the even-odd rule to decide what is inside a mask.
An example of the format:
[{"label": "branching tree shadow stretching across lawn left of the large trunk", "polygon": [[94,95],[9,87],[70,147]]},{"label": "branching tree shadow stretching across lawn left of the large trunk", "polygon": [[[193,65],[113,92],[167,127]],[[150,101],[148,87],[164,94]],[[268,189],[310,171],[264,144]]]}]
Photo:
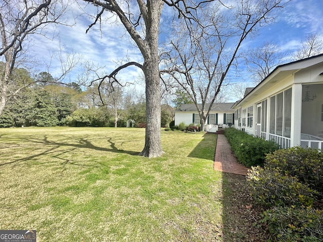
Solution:
[{"label": "branching tree shadow stretching across lawn left of the large trunk", "polygon": [[[46,147],[50,147],[50,148],[47,148],[46,150],[41,151],[38,154],[34,154],[34,155],[30,155],[28,157],[23,157],[23,158],[12,160],[12,161],[9,161],[9,162],[6,162],[6,163],[2,163],[2,164],[0,164],[0,167],[4,166],[4,165],[8,165],[8,164],[18,163],[18,162],[21,162],[21,161],[33,160],[36,157],[40,157],[42,155],[48,155],[48,154],[57,154],[57,153],[59,153],[57,155],[53,155],[52,157],[63,159],[63,158],[61,158],[59,156],[61,156],[62,154],[65,154],[65,153],[75,151],[77,149],[92,149],[92,150],[97,150],[97,151],[123,153],[123,154],[128,154],[128,155],[133,155],[133,156],[139,155],[139,152],[136,152],[136,151],[128,151],[128,150],[118,149],[116,147],[116,142],[114,142],[111,137],[109,137],[107,139],[107,143],[110,144],[111,148],[95,146],[90,141],[88,141],[86,138],[79,138],[79,139],[76,139],[76,138],[73,138],[73,137],[67,137],[67,138],[70,139],[70,140],[74,140],[74,141],[77,140],[77,142],[75,142],[75,143],[72,143],[72,142],[71,143],[64,143],[64,142],[50,141],[50,140],[48,140],[47,136],[44,136],[43,139],[22,139],[23,141],[26,141],[28,143],[34,143],[35,145],[36,144],[41,144],[41,145],[45,145]],[[133,141],[133,142],[135,143],[136,141]],[[66,149],[62,150],[62,147],[66,147]],[[68,159],[63,159],[63,160],[64,160],[64,163],[71,163]],[[80,164],[80,163],[78,163],[78,164],[73,163],[73,164],[75,164],[75,165],[83,165],[83,164]]]}]

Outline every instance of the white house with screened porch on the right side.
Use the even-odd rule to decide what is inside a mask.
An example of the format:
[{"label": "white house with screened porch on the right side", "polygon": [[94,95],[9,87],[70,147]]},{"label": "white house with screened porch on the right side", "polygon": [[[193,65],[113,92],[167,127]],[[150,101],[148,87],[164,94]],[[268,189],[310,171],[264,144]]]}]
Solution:
[{"label": "white house with screened porch on the right side", "polygon": [[323,54],[278,66],[237,101],[234,127],[282,148],[323,148]]}]

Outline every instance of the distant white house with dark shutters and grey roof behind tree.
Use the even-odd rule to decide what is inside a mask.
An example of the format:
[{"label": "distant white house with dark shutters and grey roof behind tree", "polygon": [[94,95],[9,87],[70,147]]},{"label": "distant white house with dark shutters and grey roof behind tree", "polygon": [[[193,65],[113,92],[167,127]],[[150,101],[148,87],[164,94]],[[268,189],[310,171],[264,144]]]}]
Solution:
[{"label": "distant white house with dark shutters and grey roof behind tree", "polygon": [[[211,111],[207,116],[205,124],[205,131],[216,132],[219,125],[223,127],[228,126],[229,123],[234,124],[235,116],[234,109],[232,109],[234,103],[213,103]],[[207,110],[209,104],[206,104]],[[199,109],[201,109],[199,104]],[[184,122],[185,125],[200,124],[200,116],[198,114],[195,104],[183,104],[180,108],[175,110],[175,125],[179,125]]]}]

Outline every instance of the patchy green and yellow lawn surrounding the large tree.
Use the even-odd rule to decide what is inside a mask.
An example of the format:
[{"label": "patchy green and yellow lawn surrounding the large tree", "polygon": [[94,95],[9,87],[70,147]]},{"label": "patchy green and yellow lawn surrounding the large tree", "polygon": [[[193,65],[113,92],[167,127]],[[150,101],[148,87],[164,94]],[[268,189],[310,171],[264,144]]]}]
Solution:
[{"label": "patchy green and yellow lawn surrounding the large tree", "polygon": [[144,135],[0,129],[0,229],[36,229],[37,241],[230,241],[217,136],[162,130],[165,154],[149,159],[137,155]]}]

